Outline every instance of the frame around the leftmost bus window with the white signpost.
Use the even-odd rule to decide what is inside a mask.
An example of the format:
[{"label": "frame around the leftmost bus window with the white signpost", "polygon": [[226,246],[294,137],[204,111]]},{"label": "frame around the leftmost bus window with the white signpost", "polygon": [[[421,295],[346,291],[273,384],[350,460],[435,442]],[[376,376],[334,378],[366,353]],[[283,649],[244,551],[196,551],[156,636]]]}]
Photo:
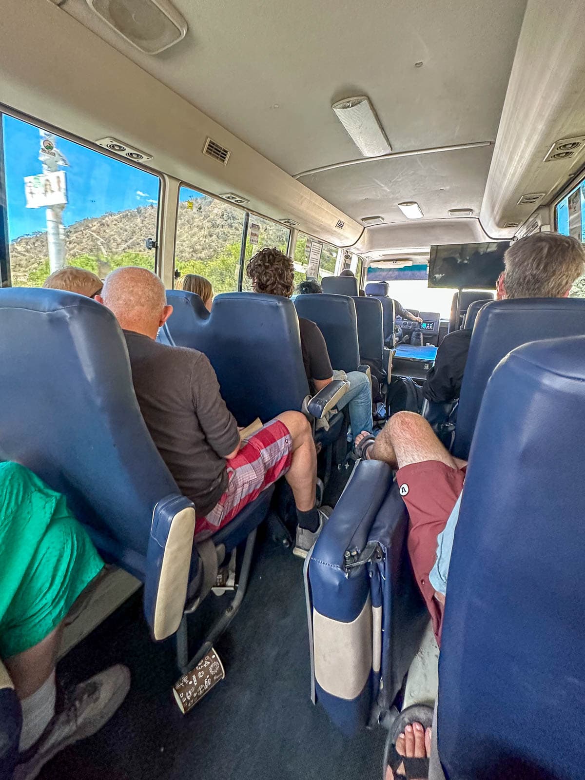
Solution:
[{"label": "frame around the leftmost bus window with the white signpost", "polygon": [[[4,171],[4,135],[3,124],[4,116],[12,117],[12,119],[19,119],[20,122],[26,122],[28,125],[32,125],[37,128],[48,130],[49,133],[54,133],[60,138],[70,141],[72,144],[78,144],[90,151],[95,151],[97,154],[102,154],[104,157],[108,157],[117,162],[121,162],[123,165],[128,165],[130,168],[137,168],[139,171],[150,173],[152,176],[156,176],[158,179],[158,208],[157,208],[157,224],[155,232],[154,246],[154,273],[161,277],[162,272],[162,257],[161,257],[161,237],[162,237],[162,225],[164,223],[164,211],[165,211],[165,195],[166,195],[166,181],[165,176],[154,168],[150,168],[148,165],[140,164],[133,160],[126,160],[114,154],[105,147],[98,146],[93,141],[85,138],[80,138],[74,133],[69,133],[67,130],[63,130],[51,122],[44,122],[42,119],[30,116],[16,109],[9,108],[8,106],[0,103],[0,144],[2,144],[2,158],[0,161],[0,287],[12,286],[12,277],[10,273],[10,236],[8,232],[8,204],[6,200],[6,188],[5,188],[5,171]],[[5,220],[5,228],[2,226],[2,220]],[[5,232],[4,232],[5,230]],[[4,232],[4,236],[2,236]],[[4,278],[8,278],[9,284],[4,284]]]}]

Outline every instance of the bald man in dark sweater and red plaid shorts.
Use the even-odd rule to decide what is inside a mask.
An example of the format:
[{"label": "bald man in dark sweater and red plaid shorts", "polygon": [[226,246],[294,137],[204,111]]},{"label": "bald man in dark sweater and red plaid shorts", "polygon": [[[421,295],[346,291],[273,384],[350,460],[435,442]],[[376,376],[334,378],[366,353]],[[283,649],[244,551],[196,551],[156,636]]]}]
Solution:
[{"label": "bald man in dark sweater and red plaid shorts", "polygon": [[118,268],[106,277],[96,300],[122,327],[148,430],[195,505],[195,540],[215,534],[284,476],[293,490],[306,555],[327,518],[315,506],[317,455],[307,418],[283,412],[240,441],[207,357],[155,341],[172,314],[158,276],[145,268]]}]

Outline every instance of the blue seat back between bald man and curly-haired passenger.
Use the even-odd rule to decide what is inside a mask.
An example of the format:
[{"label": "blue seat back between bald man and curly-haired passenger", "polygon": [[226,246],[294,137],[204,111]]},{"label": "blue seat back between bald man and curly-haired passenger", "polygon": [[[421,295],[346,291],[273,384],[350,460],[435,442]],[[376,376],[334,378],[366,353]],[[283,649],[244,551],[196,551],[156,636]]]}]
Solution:
[{"label": "blue seat back between bald man and curly-haired passenger", "polygon": [[[204,314],[193,299],[200,300],[183,290],[167,291],[168,303],[176,307],[168,330],[177,346],[207,355],[239,425],[301,410],[309,386],[293,302],[259,293],[222,293],[215,297],[211,314]],[[177,310],[182,318],[175,330]]]}]

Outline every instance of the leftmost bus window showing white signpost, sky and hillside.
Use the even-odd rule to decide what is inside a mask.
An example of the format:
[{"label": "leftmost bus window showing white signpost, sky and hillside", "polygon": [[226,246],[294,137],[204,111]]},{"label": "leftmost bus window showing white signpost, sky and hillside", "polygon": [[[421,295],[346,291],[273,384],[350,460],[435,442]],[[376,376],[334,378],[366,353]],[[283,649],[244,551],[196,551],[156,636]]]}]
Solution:
[{"label": "leftmost bus window showing white signpost, sky and hillside", "polygon": [[12,285],[63,265],[156,270],[158,176],[9,115],[2,139]]}]

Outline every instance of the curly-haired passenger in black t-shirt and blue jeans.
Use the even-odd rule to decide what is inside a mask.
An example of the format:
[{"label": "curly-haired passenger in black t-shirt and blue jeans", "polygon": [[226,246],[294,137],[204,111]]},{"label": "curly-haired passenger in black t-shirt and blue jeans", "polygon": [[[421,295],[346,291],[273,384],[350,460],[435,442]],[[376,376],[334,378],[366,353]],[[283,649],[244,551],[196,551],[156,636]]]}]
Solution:
[{"label": "curly-haired passenger in black t-shirt and blue jeans", "polygon": [[[277,249],[261,249],[246,267],[255,293],[267,293],[290,298],[295,289],[293,261]],[[317,325],[299,317],[303,365],[311,392],[319,392],[333,380],[333,369],[323,334]],[[362,431],[372,433],[372,396],[370,380],[361,371],[346,374],[349,391],[337,404],[338,409],[349,408],[349,422],[355,439]]]}]

